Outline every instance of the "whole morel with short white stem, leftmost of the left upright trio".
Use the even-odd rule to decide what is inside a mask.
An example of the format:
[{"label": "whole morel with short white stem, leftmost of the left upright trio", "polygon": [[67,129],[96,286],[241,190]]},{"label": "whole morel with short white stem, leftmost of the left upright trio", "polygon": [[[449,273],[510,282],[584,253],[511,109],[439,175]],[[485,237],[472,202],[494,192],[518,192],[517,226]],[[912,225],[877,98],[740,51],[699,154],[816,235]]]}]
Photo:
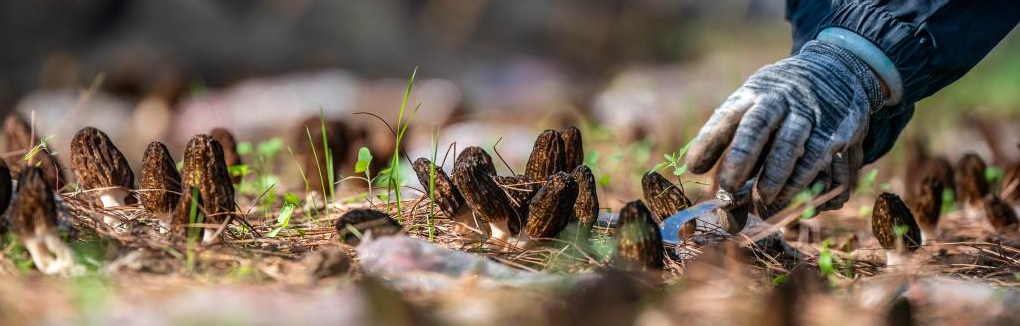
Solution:
[{"label": "whole morel with short white stem, leftmost of the left upright trio", "polygon": [[[91,126],[74,133],[70,164],[79,187],[98,197],[104,208],[124,206],[135,186],[135,173],[106,133]],[[109,214],[103,221],[111,226],[117,222]]]}]

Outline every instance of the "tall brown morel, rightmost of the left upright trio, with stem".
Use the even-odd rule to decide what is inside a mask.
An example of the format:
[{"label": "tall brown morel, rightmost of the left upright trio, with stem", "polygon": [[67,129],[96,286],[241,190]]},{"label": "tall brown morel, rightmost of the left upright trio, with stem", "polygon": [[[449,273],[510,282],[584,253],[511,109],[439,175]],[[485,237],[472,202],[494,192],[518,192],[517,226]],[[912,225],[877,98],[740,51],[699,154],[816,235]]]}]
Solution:
[{"label": "tall brown morel, rightmost of the left upright trio, with stem", "polygon": [[[237,205],[234,202],[234,182],[223,161],[223,150],[211,135],[197,134],[188,142],[181,179],[183,188],[198,188],[205,213],[203,222],[219,224],[234,217]],[[205,243],[216,240],[212,230],[205,229],[202,234]]]}]

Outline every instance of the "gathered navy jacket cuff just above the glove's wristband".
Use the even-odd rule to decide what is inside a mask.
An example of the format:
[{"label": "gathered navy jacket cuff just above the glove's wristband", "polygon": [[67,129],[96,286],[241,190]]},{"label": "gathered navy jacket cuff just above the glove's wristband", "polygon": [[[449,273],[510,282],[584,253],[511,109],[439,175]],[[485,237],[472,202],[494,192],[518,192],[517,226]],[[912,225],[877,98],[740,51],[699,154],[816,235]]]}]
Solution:
[{"label": "gathered navy jacket cuff just above the glove's wristband", "polygon": [[863,37],[888,56],[899,71],[903,100],[875,115],[898,115],[927,94],[925,80],[931,73],[928,67],[933,43],[923,25],[900,21],[873,4],[848,1],[832,8],[817,31],[829,28],[849,30]]}]

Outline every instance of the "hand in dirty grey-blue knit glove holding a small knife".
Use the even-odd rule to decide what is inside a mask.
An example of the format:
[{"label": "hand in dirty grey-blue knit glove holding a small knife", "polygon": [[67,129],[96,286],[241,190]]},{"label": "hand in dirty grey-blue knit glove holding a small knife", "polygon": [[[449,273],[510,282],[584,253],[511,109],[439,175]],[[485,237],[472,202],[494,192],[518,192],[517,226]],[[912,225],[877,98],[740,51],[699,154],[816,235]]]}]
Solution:
[{"label": "hand in dirty grey-blue knit glove holding a small knife", "polygon": [[847,185],[822,207],[838,208],[861,167],[869,116],[881,106],[880,79],[864,61],[812,41],[755,72],[715,110],[687,152],[687,167],[707,172],[725,152],[718,182],[726,192],[757,177],[756,199],[768,206],[815,182]]}]

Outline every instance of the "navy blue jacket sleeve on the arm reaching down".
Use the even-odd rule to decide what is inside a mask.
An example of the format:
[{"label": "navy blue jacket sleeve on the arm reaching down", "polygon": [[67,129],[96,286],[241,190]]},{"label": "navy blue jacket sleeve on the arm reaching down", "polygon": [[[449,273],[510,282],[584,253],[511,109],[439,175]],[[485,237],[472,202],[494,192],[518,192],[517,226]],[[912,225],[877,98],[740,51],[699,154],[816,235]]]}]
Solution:
[{"label": "navy blue jacket sleeve on the arm reaching down", "polygon": [[914,103],[974,67],[1020,20],[1016,0],[788,0],[794,53],[826,28],[843,28],[877,45],[903,77],[904,98],[871,118],[865,161],[888,152]]}]

